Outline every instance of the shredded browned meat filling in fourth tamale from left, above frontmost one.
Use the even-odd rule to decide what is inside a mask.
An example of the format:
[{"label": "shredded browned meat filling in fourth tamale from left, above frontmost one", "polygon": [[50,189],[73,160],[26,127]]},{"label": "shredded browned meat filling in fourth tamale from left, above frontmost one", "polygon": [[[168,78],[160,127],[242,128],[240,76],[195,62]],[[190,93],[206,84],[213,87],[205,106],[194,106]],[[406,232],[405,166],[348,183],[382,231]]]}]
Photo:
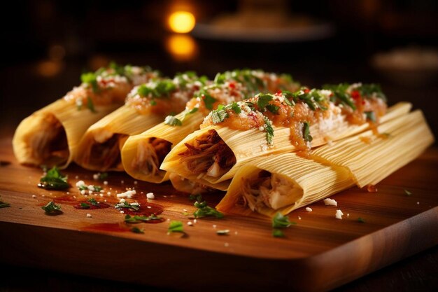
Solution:
[{"label": "shredded browned meat filling in fourth tamale from left, above frontmost one", "polygon": [[215,130],[209,130],[192,144],[185,143],[187,150],[180,153],[181,162],[193,174],[220,177],[236,164],[233,151]]}]

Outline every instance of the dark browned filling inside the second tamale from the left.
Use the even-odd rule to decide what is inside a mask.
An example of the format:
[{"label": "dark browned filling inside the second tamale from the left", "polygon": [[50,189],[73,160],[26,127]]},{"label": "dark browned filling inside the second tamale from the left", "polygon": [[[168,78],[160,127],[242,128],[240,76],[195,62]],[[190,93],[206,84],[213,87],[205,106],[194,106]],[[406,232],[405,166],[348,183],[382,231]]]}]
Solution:
[{"label": "dark browned filling inside the second tamale from the left", "polygon": [[120,157],[120,140],[127,137],[125,134],[113,134],[113,137],[104,143],[94,143],[91,147],[90,165],[99,165],[101,170],[117,168],[122,163]]}]

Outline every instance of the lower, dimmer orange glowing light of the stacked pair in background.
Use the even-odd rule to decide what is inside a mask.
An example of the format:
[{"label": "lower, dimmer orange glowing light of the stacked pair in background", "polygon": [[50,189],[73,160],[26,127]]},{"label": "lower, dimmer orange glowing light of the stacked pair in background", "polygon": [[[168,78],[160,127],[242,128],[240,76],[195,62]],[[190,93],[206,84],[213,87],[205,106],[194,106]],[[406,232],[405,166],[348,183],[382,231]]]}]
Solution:
[{"label": "lower, dimmer orange glowing light of the stacked pair in background", "polygon": [[191,36],[174,34],[167,39],[167,50],[175,60],[186,61],[196,55],[197,46]]}]

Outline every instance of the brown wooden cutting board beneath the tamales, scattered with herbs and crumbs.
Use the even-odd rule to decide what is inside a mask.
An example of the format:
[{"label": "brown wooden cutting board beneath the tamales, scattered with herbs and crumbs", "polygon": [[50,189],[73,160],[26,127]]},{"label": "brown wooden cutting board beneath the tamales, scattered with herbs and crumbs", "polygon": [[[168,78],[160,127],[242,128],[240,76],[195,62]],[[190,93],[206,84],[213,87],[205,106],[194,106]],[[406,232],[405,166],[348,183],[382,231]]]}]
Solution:
[{"label": "brown wooden cutting board beneath the tamales, scattered with herbs and crumbs", "polygon": [[[0,167],[1,200],[10,203],[0,209],[1,263],[190,291],[326,291],[438,243],[437,148],[379,183],[376,193],[351,188],[332,196],[338,207],[316,202],[311,212],[292,212],[297,224],[284,230],[285,238],[272,237],[271,221],[260,216],[195,223],[187,195],[123,173],[110,173],[104,186],[92,179],[94,172],[72,165],[64,170],[69,194],[37,188],[41,169],[18,165],[10,139],[0,140],[0,160],[10,162]],[[152,192],[149,202],[164,208],[165,221],[136,225],[144,230],[136,234],[114,207],[75,209],[65,198],[83,198],[74,187],[78,180],[103,186],[105,193],[95,197],[100,202],[115,202],[115,193],[126,188],[136,188],[143,201]],[[214,206],[222,195],[204,198]],[[41,206],[50,200],[63,214],[44,214]],[[342,220],[334,217],[337,209]],[[184,223],[184,235],[167,234],[174,220]],[[225,229],[228,235],[216,233]]]}]

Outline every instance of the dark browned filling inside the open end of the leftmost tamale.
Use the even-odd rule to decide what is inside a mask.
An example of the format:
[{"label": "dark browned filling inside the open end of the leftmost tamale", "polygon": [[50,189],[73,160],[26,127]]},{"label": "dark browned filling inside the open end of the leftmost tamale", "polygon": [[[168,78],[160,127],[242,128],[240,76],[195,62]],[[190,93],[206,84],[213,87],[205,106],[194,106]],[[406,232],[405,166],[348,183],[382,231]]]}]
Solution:
[{"label": "dark browned filling inside the open end of the leftmost tamale", "polygon": [[70,155],[65,129],[52,115],[44,118],[44,125],[32,139],[34,158],[44,165],[62,165]]}]

